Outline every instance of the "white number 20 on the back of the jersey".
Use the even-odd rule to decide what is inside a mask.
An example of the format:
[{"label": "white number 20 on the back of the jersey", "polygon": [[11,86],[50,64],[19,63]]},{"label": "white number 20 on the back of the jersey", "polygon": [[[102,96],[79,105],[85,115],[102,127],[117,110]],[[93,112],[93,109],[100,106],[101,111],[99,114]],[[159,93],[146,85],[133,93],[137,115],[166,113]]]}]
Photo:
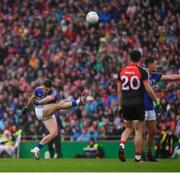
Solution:
[{"label": "white number 20 on the back of the jersey", "polygon": [[122,90],[138,90],[141,86],[141,81],[138,76],[121,76]]}]

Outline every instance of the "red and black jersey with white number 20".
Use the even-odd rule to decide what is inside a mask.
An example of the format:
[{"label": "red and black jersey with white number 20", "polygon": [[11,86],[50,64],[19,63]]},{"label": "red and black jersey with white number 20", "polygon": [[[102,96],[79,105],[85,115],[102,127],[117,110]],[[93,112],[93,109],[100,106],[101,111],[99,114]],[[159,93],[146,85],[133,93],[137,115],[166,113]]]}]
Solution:
[{"label": "red and black jersey with white number 20", "polygon": [[122,105],[144,104],[143,81],[148,81],[148,73],[137,64],[129,64],[119,73],[122,86]]}]

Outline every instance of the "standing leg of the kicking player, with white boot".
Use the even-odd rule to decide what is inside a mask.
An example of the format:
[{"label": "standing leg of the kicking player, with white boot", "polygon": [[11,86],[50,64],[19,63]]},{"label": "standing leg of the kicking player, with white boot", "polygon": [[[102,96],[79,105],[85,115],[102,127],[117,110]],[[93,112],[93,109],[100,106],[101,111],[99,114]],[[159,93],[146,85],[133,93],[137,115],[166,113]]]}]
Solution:
[{"label": "standing leg of the kicking player, with white boot", "polygon": [[43,146],[49,143],[58,134],[57,122],[54,116],[45,120],[44,125],[47,128],[49,134],[44,136],[40,143],[31,150],[36,159],[39,159],[39,151],[43,148]]}]

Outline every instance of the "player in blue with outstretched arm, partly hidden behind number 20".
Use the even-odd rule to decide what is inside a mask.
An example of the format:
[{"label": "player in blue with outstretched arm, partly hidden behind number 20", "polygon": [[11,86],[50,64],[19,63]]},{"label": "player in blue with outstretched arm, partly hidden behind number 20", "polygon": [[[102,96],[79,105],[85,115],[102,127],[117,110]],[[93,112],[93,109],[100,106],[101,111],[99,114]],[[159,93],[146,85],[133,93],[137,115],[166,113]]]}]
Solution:
[{"label": "player in blue with outstretched arm, partly hidden behind number 20", "polygon": [[[145,60],[145,66],[149,72],[149,80],[150,80],[150,84],[151,84],[153,89],[156,88],[157,83],[159,81],[180,80],[180,75],[178,75],[178,74],[163,75],[163,74],[157,72],[157,65],[156,64],[157,64],[157,61],[152,57],[148,57]],[[144,152],[142,152],[142,155],[143,155],[144,160],[157,161],[151,152],[154,136],[156,134],[156,119],[157,119],[157,117],[156,117],[156,112],[155,112],[153,100],[148,96],[148,94],[146,92],[144,95],[144,104],[145,104],[146,127],[148,130],[148,135],[147,135],[148,152],[147,152],[146,157],[145,157]],[[144,148],[143,148],[143,150],[144,150]]]}]

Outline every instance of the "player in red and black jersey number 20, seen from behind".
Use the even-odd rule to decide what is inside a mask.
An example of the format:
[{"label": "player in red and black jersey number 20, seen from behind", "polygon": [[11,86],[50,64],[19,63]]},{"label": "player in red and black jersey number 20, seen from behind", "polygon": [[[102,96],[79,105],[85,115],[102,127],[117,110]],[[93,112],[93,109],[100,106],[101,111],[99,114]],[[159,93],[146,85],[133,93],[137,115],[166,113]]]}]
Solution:
[{"label": "player in red and black jersey number 20, seen from behind", "polygon": [[149,84],[147,71],[137,65],[140,58],[141,54],[139,51],[132,51],[130,54],[131,62],[119,73],[119,110],[122,111],[126,123],[126,129],[121,135],[119,148],[119,158],[121,161],[126,161],[124,146],[133,130],[135,131],[135,161],[141,161],[145,119],[144,91],[147,91],[153,101],[159,102]]}]

